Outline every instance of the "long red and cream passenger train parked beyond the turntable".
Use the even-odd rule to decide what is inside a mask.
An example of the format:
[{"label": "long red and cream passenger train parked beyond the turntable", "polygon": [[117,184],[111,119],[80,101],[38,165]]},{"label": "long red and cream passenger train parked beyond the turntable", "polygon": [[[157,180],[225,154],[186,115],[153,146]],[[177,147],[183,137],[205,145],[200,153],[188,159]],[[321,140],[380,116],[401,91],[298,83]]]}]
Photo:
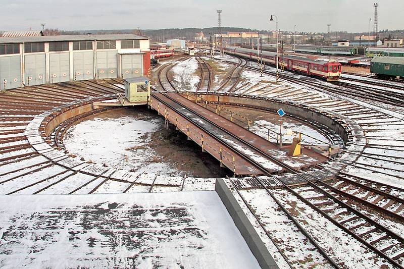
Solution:
[{"label": "long red and cream passenger train parked beyond the turntable", "polygon": [[[246,57],[257,60],[257,50],[228,46],[225,52],[230,55]],[[276,65],[276,53],[263,51],[262,58],[265,63]],[[309,76],[325,78],[328,81],[337,81],[341,75],[341,64],[336,61],[311,60],[298,56],[279,56],[278,63],[285,70],[299,72]]]}]

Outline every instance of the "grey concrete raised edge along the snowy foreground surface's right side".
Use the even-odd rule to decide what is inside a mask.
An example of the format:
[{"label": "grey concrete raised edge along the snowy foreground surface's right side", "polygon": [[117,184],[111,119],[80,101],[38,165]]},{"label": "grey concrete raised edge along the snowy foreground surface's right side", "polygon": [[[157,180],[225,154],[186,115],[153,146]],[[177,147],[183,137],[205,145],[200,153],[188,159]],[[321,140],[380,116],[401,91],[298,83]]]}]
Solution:
[{"label": "grey concrete raised edge along the snowy foreground surface's right side", "polygon": [[269,253],[264,242],[261,240],[256,230],[247,219],[247,216],[245,216],[241,206],[238,204],[236,198],[234,198],[223,179],[216,179],[215,191],[222,200],[224,206],[233,219],[234,224],[240,231],[252,254],[256,257],[261,268],[278,269],[279,267],[274,258]]}]

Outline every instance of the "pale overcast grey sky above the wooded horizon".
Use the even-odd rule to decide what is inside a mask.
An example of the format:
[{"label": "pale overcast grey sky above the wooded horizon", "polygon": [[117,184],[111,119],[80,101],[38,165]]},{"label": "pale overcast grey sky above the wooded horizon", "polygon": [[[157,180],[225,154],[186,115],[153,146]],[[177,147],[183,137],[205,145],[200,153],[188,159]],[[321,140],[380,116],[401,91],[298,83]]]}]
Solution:
[{"label": "pale overcast grey sky above the wooded horizon", "polygon": [[[379,1],[379,30],[404,29],[404,0]],[[369,0],[0,0],[0,30],[40,29],[161,29],[222,25],[275,30],[270,14],[278,16],[281,30],[367,32],[373,2]]]}]

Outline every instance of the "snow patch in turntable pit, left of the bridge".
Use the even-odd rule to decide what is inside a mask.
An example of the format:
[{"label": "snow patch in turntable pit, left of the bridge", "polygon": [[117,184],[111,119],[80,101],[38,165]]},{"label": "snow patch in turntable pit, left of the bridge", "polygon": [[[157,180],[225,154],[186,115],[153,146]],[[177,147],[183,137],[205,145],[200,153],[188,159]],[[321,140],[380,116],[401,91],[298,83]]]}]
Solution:
[{"label": "snow patch in turntable pit, left of the bridge", "polygon": [[151,132],[158,130],[160,119],[138,120],[132,116],[94,118],[72,126],[64,135],[66,149],[98,164],[137,172],[180,173],[154,159],[147,146]]}]

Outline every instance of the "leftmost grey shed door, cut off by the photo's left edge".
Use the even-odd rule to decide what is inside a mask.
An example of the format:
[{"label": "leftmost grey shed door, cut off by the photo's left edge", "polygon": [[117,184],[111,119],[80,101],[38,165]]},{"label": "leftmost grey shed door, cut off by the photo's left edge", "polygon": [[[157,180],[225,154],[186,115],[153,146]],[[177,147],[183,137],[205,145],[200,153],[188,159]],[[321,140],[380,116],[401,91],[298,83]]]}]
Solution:
[{"label": "leftmost grey shed door, cut off by the photo's left edge", "polygon": [[0,90],[21,87],[21,57],[0,57]]}]

